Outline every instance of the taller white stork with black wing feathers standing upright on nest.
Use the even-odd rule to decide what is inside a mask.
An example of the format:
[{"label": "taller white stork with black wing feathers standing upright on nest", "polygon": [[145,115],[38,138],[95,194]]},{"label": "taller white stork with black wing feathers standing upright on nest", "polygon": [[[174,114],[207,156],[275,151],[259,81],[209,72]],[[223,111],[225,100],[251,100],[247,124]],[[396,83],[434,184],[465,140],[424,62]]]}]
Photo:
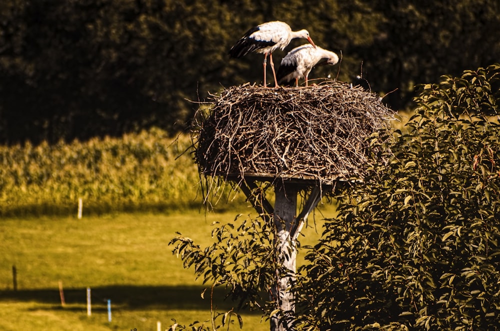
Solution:
[{"label": "taller white stork with black wing feathers standing upright on nest", "polygon": [[231,57],[241,57],[246,55],[250,51],[256,51],[257,53],[264,54],[264,61],[262,65],[264,67],[264,87],[265,83],[265,64],[267,60],[267,54],[269,54],[269,61],[272,69],[272,75],[274,76],[275,86],[278,86],[276,80],[276,73],[274,72],[274,63],[272,62],[272,52],[278,48],[281,50],[286,47],[291,39],[294,38],[304,38],[307,39],[313,47],[316,47],[314,42],[312,42],[309,32],[307,30],[292,31],[290,26],[284,22],[272,21],[262,23],[255,27],[249,29],[241,39],[239,39],[234,46],[229,50],[229,55]]}]

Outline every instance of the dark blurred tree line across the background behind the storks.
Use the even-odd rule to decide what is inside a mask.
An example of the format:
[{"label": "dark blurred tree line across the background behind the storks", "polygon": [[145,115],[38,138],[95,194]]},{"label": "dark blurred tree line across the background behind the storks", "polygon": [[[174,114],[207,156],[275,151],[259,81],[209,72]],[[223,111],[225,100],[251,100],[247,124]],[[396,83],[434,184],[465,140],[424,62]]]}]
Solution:
[{"label": "dark blurred tree line across the background behind the storks", "polygon": [[[311,77],[363,75],[408,106],[413,86],[500,59],[488,0],[3,0],[0,143],[185,127],[208,92],[261,82],[260,54],[229,59],[249,27],[279,19],[342,54]],[[300,44],[294,40],[286,50]],[[285,52],[276,52],[275,64]]]}]

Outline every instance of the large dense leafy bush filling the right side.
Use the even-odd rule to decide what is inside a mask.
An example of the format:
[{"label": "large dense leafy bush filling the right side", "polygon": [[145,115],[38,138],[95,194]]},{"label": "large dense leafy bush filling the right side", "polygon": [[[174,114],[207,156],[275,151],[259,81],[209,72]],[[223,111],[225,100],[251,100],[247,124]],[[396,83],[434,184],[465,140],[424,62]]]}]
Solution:
[{"label": "large dense leafy bush filling the right side", "polygon": [[303,329],[497,327],[499,78],[495,64],[423,85],[404,129],[373,139],[389,160],[339,195],[309,250]]}]

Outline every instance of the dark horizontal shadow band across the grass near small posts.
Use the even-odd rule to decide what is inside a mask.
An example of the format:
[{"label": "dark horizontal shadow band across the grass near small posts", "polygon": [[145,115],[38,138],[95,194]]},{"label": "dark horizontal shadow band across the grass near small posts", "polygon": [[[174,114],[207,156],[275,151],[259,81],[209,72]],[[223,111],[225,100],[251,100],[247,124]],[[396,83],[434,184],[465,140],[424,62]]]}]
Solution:
[{"label": "dark horizontal shadow band across the grass near small posts", "polygon": [[[201,298],[203,286],[136,286],[136,285],[111,285],[102,287],[92,287],[90,289],[92,310],[105,309],[107,299],[113,305],[118,305],[122,309],[198,309],[210,308],[210,288]],[[72,309],[72,304],[86,305],[86,288],[64,289],[64,300],[68,306],[65,309]],[[224,300],[225,291],[223,288],[214,288],[213,305],[218,311],[229,310],[237,306],[237,302],[230,298]],[[2,290],[0,291],[0,302],[4,300],[35,301],[46,304],[60,306],[59,291],[57,288],[50,289],[22,289],[22,290]],[[74,307],[74,309],[81,309]],[[249,312],[246,311],[245,312]],[[255,313],[258,313],[255,311]]]}]

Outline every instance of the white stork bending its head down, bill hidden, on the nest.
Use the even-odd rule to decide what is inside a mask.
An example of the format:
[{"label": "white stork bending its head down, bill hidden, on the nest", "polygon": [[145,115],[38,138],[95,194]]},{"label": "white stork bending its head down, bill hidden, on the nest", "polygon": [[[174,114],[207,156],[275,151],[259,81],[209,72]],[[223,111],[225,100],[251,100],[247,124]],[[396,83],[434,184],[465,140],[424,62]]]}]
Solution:
[{"label": "white stork bending its head down, bill hidden, on the nest", "polygon": [[305,77],[307,86],[307,77],[313,67],[321,64],[333,65],[337,62],[338,56],[334,52],[306,43],[293,48],[283,57],[277,73],[278,83],[289,83],[295,79],[295,86],[298,86],[298,78]]}]

